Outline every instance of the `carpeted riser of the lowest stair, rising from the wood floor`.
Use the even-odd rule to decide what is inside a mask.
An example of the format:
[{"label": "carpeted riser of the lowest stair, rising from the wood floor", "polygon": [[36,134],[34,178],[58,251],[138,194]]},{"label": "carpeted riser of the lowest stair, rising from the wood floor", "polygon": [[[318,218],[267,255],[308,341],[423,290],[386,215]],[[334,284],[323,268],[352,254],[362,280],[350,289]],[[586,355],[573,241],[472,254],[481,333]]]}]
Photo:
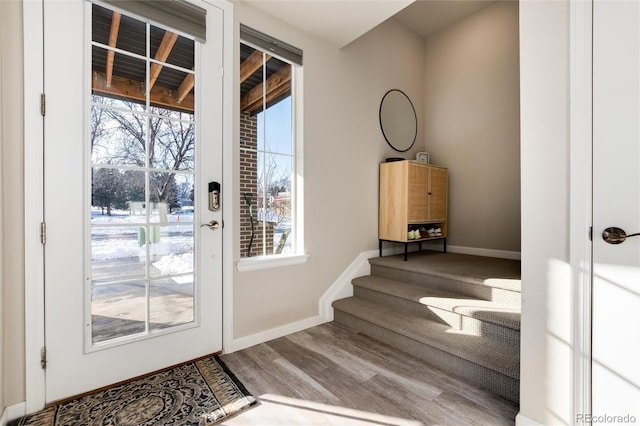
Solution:
[{"label": "carpeted riser of the lowest stair, rising from the wood floor", "polygon": [[468,360],[371,324],[353,315],[335,310],[334,320],[362,334],[394,346],[403,352],[422,359],[428,364],[478,387],[496,393],[510,401],[519,402],[520,381],[490,370]]}]

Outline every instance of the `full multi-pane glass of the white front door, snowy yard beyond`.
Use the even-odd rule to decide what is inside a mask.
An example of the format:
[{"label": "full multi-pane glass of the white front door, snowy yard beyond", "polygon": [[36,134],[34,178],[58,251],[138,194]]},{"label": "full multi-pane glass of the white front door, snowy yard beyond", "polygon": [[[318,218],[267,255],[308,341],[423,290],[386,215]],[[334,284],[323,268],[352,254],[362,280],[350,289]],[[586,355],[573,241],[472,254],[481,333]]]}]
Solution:
[{"label": "full multi-pane glass of the white front door, snowy yard beyond", "polygon": [[104,345],[194,322],[196,69],[193,40],[92,8],[86,294]]}]

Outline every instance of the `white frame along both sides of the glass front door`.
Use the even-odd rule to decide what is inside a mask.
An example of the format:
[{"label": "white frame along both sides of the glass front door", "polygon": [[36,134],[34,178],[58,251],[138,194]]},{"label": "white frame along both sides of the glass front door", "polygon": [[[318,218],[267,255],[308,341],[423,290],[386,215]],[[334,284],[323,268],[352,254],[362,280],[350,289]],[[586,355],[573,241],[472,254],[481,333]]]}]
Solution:
[{"label": "white frame along both sides of the glass front door", "polygon": [[[44,408],[45,370],[40,366],[40,350],[45,344],[44,247],[40,226],[44,220],[44,117],[40,96],[44,93],[43,19],[44,1],[23,1],[24,37],[24,203],[25,203],[25,412]],[[201,0],[223,12],[223,111],[235,111],[233,76],[234,14],[227,0]],[[223,223],[222,228],[222,347],[233,342],[233,129],[234,114],[223,114]],[[224,255],[224,253],[229,253]]]}]

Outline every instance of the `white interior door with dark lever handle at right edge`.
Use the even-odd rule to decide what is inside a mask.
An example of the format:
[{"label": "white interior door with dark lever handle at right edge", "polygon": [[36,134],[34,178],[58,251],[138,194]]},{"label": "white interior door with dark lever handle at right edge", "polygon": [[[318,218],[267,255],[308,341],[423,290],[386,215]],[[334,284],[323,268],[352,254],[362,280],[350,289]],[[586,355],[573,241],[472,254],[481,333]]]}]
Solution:
[{"label": "white interior door with dark lever handle at right edge", "polygon": [[592,414],[598,423],[635,423],[640,237],[610,244],[602,234],[640,232],[640,3],[596,0],[593,34]]}]

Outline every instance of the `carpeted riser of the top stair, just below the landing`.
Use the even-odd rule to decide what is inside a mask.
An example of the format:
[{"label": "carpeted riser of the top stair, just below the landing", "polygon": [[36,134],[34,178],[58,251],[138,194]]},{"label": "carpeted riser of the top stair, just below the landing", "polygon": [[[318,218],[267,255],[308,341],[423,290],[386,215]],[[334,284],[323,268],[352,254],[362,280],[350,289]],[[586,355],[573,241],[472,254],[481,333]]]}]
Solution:
[{"label": "carpeted riser of the top stair, just below the landing", "polygon": [[520,306],[521,296],[517,291],[489,287],[482,284],[474,284],[420,272],[388,268],[382,265],[371,265],[371,275],[404,281],[409,284],[424,286],[436,290],[453,291],[465,296],[482,300],[490,300],[497,303],[509,303],[514,307]]}]

